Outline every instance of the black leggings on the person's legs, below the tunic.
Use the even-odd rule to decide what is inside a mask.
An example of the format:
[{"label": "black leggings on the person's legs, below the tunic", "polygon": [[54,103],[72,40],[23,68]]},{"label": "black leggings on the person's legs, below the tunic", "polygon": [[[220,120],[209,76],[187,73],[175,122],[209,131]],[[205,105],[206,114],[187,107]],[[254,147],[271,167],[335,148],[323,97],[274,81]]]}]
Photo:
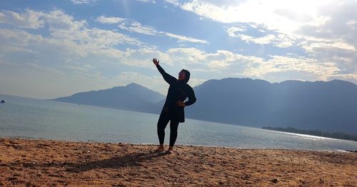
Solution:
[{"label": "black leggings on the person's legs, below the tunic", "polygon": [[159,136],[160,144],[164,144],[165,128],[170,121],[170,146],[174,146],[179,122],[172,120],[170,116],[171,115],[166,112],[160,114],[159,121],[157,122],[157,135]]}]

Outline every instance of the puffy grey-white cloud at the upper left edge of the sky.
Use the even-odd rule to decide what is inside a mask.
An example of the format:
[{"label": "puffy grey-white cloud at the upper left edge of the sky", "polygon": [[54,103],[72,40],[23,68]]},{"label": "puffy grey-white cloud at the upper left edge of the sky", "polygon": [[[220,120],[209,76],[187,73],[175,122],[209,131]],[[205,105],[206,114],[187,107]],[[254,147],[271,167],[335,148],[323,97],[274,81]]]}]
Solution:
[{"label": "puffy grey-white cloud at the upper left edge of the sky", "polygon": [[[3,29],[1,31],[1,46],[23,47],[38,50],[39,54],[46,54],[42,46],[54,46],[54,49],[66,51],[74,56],[86,56],[92,53],[99,53],[101,50],[111,49],[112,46],[129,44],[134,46],[144,45],[141,41],[125,34],[104,29],[89,29],[85,20],[75,20],[72,16],[63,11],[55,10],[49,12],[37,12],[26,10],[24,14],[12,14],[26,17],[27,14],[41,15],[37,22],[48,25],[49,36],[44,37],[36,34],[29,34],[19,29]],[[6,21],[10,21],[7,19]],[[10,24],[6,22],[6,24]],[[23,28],[19,25],[19,28]],[[52,47],[53,48],[53,47]],[[65,52],[64,52],[65,53]]]}]

